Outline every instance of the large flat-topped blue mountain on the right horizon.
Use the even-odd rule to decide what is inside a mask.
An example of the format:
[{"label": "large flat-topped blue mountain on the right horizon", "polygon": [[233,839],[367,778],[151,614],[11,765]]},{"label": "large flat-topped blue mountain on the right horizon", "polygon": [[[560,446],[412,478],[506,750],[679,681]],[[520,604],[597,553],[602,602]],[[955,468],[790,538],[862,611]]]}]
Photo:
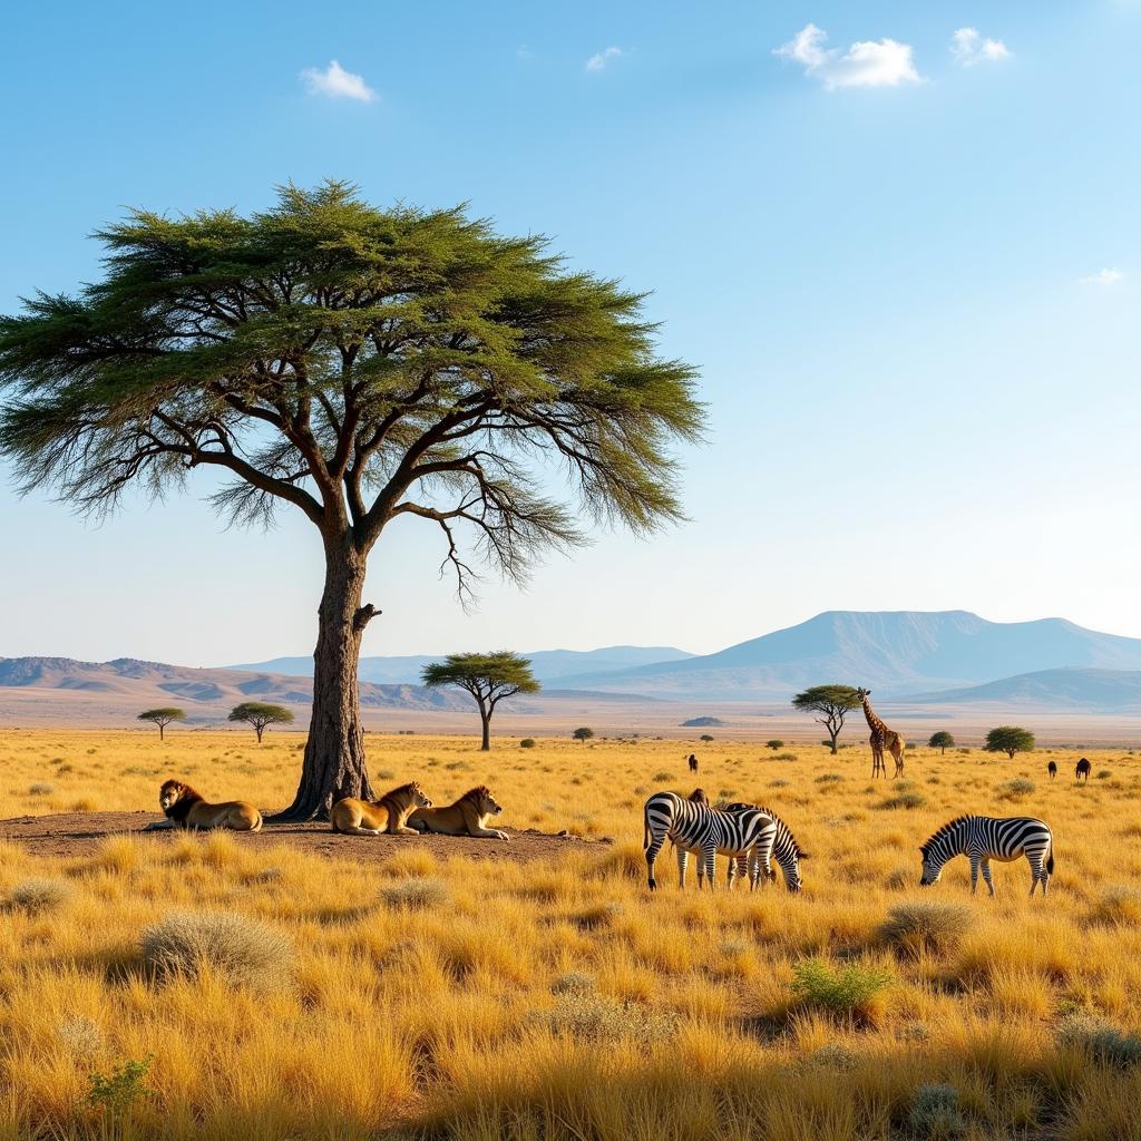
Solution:
[{"label": "large flat-topped blue mountain on the right horizon", "polygon": [[828,681],[879,697],[1062,667],[1141,670],[1141,639],[1063,618],[988,622],[966,610],[828,610],[717,654],[575,678],[582,689],[702,701],[787,701]]}]

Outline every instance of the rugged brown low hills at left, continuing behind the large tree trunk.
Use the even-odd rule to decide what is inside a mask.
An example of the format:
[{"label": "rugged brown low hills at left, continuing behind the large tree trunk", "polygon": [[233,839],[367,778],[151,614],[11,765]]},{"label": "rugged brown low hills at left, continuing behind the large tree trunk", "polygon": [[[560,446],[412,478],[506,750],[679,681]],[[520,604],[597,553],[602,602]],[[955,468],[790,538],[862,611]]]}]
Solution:
[{"label": "rugged brown low hills at left, continuing behind the large tree trunk", "polygon": [[[0,687],[81,690],[147,705],[181,704],[192,720],[218,720],[240,702],[257,698],[282,705],[313,701],[313,679],[241,670],[192,670],[132,657],[76,662],[70,657],[0,657]],[[361,686],[361,704],[378,709],[468,709],[462,694],[423,686]]]}]

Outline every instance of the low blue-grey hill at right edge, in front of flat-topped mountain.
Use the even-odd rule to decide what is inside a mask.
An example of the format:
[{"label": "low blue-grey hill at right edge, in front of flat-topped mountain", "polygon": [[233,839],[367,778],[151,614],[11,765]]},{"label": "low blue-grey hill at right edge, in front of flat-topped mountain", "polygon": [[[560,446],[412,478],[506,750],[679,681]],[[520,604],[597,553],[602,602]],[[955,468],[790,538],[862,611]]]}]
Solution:
[{"label": "low blue-grey hill at right edge, in front of flat-topped mountain", "polygon": [[1141,670],[1038,670],[965,689],[913,698],[923,705],[1050,707],[1087,712],[1141,712]]}]

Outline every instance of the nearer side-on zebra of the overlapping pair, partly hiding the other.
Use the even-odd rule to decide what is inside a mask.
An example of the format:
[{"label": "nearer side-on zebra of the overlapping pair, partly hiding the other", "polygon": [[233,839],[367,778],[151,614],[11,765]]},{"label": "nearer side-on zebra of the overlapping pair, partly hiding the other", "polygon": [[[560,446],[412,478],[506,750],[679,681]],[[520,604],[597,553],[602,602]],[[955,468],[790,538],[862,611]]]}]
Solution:
[{"label": "nearer side-on zebra of the overlapping pair, partly hiding the other", "polygon": [[685,869],[688,852],[697,852],[697,887],[707,880],[713,889],[717,856],[721,852],[730,858],[752,856],[760,845],[767,863],[776,839],[772,818],[755,810],[746,812],[722,812],[709,804],[685,800],[673,792],[656,792],[646,801],[646,832],[642,847],[646,849],[646,874],[649,889],[657,887],[654,864],[666,840],[678,845],[678,871],[685,887]]}]

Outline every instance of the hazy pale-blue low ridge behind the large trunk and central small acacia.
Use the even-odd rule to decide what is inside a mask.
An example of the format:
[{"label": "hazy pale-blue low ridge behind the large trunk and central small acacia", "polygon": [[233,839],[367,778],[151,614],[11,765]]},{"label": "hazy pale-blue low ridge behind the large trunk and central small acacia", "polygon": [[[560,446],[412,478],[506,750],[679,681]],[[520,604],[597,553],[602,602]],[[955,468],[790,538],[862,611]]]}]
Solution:
[{"label": "hazy pale-blue low ridge behind the large trunk and central small acacia", "polygon": [[[362,681],[378,683],[419,682],[420,671],[429,662],[438,662],[443,654],[413,654],[406,657],[363,657],[357,677]],[[693,657],[683,649],[672,646],[606,646],[602,649],[541,649],[524,657],[531,658],[532,670],[544,685],[559,683],[559,688],[573,686],[582,674],[608,673],[615,670],[652,665],[658,662],[677,662]],[[275,657],[269,662],[249,665],[230,665],[228,670],[254,670],[269,673],[286,673],[293,677],[313,677],[311,657]]]}]

